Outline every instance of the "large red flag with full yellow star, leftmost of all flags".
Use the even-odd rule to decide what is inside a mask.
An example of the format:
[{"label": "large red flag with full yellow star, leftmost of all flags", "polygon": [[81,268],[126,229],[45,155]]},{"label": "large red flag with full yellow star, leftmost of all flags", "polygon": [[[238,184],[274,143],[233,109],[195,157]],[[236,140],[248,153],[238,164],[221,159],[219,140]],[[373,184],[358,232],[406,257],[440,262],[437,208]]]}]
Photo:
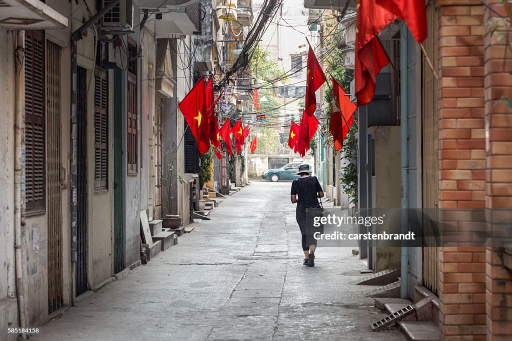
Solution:
[{"label": "large red flag with full yellow star, leftmost of all flags", "polygon": [[199,153],[201,154],[206,153],[210,147],[208,114],[205,110],[204,92],[204,77],[201,77],[194,88],[190,90],[179,104],[188,127],[196,138]]}]

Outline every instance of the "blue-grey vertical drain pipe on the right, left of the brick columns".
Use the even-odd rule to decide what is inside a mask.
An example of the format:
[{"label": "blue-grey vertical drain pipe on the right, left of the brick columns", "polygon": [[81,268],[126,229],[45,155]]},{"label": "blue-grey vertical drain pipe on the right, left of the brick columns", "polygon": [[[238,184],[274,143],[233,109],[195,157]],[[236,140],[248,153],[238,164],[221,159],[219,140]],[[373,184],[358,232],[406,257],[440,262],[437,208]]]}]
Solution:
[{"label": "blue-grey vertical drain pipe on the right, left of the brick columns", "polygon": [[[400,27],[400,169],[402,180],[401,196],[401,231],[407,233],[409,230],[407,209],[409,207],[409,126],[407,98],[409,96],[407,79],[407,36],[409,30],[407,26],[401,23]],[[402,242],[401,261],[400,261],[400,297],[407,298],[408,291],[408,272],[409,272],[409,248],[406,242]]]}]

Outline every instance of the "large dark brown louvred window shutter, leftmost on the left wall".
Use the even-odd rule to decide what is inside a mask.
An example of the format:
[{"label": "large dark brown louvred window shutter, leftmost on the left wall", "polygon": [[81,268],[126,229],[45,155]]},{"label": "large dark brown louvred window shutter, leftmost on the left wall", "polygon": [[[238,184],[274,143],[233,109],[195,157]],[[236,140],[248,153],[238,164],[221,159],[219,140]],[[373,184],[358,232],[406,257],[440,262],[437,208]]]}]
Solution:
[{"label": "large dark brown louvred window shutter, leftmost on the left wall", "polygon": [[46,209],[45,34],[25,35],[25,204],[27,214]]}]

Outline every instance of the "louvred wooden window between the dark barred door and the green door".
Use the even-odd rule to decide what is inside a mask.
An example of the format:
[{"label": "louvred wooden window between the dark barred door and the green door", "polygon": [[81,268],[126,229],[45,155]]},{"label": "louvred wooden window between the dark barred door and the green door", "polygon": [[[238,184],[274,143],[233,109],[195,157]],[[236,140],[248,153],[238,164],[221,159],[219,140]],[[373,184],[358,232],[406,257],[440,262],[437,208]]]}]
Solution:
[{"label": "louvred wooden window between the dark barred door and the green door", "polygon": [[109,115],[106,71],[94,70],[94,189],[108,189]]}]

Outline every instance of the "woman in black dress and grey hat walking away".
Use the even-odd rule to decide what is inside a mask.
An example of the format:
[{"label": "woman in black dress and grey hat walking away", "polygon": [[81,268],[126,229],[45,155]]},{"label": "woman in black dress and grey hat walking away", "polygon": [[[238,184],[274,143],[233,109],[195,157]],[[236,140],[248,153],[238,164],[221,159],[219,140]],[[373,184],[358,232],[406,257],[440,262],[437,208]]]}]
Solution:
[{"label": "woman in black dress and grey hat walking away", "polygon": [[[298,166],[297,175],[301,177],[293,180],[291,184],[291,202],[297,203],[296,219],[302,233],[302,249],[304,250],[304,265],[315,266],[316,239],[306,223],[306,209],[319,208],[318,198],[324,197],[322,186],[316,177],[312,177],[308,164]],[[298,200],[297,200],[298,195]]]}]

